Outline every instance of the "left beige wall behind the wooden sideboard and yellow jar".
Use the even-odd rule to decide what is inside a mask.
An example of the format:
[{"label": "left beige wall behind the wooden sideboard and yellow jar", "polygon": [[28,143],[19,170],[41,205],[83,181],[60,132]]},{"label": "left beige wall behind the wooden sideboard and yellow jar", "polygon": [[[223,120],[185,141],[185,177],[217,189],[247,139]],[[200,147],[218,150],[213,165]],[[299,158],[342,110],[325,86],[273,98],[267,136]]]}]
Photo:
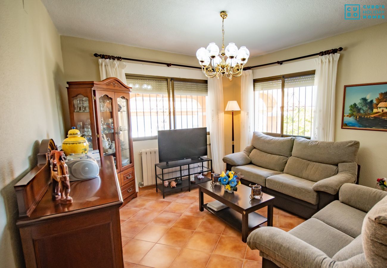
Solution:
[{"label": "left beige wall behind the wooden sideboard and yellow jar", "polygon": [[60,37],[39,0],[0,9],[0,266],[22,267],[14,184],[36,165],[42,139],[63,135]]}]

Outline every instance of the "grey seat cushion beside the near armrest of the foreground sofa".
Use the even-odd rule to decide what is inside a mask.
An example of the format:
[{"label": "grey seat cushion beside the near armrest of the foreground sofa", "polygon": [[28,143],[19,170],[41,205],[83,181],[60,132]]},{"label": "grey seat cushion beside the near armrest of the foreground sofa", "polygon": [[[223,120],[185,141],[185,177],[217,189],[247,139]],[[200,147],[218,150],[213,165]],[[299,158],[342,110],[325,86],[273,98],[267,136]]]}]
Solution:
[{"label": "grey seat cushion beside the near armrest of the foreground sofa", "polygon": [[297,227],[291,229],[288,233],[307,242],[313,247],[320,249],[330,258],[353,241],[353,237],[350,237],[315,218],[311,218],[306,222],[301,223]]}]

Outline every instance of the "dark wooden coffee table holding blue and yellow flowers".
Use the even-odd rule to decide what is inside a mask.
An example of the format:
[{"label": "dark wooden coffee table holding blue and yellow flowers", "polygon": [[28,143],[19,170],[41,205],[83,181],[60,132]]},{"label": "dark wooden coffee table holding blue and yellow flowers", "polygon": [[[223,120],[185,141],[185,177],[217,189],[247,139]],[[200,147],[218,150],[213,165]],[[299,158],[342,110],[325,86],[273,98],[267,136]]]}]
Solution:
[{"label": "dark wooden coffee table holding blue and yellow flowers", "polygon": [[[214,211],[203,203],[203,193],[222,202],[228,208]],[[263,194],[262,199],[255,197],[250,199],[251,188],[243,184],[238,185],[238,191],[229,193],[224,191],[223,185],[217,183],[211,186],[211,182],[199,184],[199,210],[204,208],[218,216],[232,227],[242,232],[242,241],[246,243],[248,234],[267,222],[267,226],[273,226],[274,196]],[[256,210],[267,206],[267,218],[256,213]]]}]

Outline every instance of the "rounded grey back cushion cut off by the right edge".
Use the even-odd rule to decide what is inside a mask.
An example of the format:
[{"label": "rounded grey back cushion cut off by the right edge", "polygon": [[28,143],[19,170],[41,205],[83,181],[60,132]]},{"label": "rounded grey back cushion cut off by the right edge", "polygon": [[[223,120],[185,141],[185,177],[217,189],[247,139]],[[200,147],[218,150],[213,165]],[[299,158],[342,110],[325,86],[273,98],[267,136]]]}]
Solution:
[{"label": "rounded grey back cushion cut off by the right edge", "polygon": [[368,264],[387,267],[387,196],[368,211],[361,232]]}]

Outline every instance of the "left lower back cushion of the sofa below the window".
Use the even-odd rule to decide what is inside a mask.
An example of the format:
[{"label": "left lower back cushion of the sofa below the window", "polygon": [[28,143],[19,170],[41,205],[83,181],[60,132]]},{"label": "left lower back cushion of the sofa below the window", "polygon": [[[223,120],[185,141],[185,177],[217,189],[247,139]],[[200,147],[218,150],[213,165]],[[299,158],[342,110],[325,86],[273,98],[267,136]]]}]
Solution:
[{"label": "left lower back cushion of the sofa below the window", "polygon": [[250,153],[251,162],[259,167],[268,168],[276,171],[284,171],[288,156],[272,155],[259,149],[253,149]]}]

